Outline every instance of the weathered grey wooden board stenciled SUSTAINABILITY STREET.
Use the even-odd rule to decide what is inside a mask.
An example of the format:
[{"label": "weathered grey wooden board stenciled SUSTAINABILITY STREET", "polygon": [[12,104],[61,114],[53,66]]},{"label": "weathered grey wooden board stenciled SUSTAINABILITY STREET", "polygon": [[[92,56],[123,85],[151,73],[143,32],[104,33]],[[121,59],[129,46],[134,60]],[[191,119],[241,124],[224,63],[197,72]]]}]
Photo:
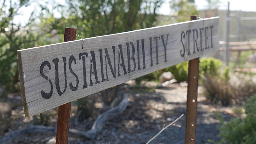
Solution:
[{"label": "weathered grey wooden board stenciled SUSTAINABILITY STREET", "polygon": [[19,50],[25,116],[215,52],[218,34],[214,17]]}]

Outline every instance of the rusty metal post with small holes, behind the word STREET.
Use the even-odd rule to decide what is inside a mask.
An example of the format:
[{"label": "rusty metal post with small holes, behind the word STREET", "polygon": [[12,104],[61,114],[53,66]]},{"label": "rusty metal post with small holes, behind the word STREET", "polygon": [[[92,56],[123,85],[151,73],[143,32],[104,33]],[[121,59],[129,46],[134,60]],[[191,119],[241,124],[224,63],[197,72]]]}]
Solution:
[{"label": "rusty metal post with small holes, behind the word STREET", "polygon": [[[196,16],[191,16],[191,20],[197,20]],[[196,144],[198,73],[199,58],[189,60],[185,144]]]}]

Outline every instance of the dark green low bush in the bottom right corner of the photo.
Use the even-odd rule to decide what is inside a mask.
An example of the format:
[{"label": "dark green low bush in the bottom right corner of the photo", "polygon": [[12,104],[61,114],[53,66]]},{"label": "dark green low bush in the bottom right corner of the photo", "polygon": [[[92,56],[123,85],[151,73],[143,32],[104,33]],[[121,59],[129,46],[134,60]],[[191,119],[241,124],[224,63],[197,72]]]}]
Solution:
[{"label": "dark green low bush in the bottom right corner of the photo", "polygon": [[220,117],[221,126],[218,127],[221,140],[216,142],[209,140],[213,144],[255,144],[256,143],[256,95],[247,101],[245,106],[246,117],[234,118],[224,124],[223,117]]}]

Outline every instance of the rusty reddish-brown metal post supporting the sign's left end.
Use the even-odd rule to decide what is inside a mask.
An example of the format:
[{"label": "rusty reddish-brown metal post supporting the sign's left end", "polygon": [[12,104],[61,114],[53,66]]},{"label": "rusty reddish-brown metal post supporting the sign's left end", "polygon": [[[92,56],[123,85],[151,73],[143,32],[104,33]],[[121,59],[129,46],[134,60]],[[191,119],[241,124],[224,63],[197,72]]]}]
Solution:
[{"label": "rusty reddish-brown metal post supporting the sign's left end", "polygon": [[[76,28],[65,28],[64,42],[76,40]],[[68,144],[71,102],[59,106],[56,144]]]}]

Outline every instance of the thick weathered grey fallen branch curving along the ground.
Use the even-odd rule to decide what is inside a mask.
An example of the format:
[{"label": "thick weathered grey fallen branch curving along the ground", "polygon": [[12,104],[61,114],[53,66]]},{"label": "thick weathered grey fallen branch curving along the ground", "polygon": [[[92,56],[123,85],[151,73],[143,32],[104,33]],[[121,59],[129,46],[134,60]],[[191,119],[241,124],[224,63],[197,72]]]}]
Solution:
[{"label": "thick weathered grey fallen branch curving along the ground", "polygon": [[[130,99],[125,94],[121,94],[121,100],[122,101],[116,107],[109,109],[108,111],[98,116],[94,121],[91,130],[84,132],[76,129],[69,129],[69,136],[93,140],[109,119],[121,114],[126,109]],[[29,136],[34,134],[47,134],[55,136],[56,127],[47,127],[41,125],[26,127],[20,130],[9,132],[0,139],[0,143],[7,144],[20,136]]]}]

